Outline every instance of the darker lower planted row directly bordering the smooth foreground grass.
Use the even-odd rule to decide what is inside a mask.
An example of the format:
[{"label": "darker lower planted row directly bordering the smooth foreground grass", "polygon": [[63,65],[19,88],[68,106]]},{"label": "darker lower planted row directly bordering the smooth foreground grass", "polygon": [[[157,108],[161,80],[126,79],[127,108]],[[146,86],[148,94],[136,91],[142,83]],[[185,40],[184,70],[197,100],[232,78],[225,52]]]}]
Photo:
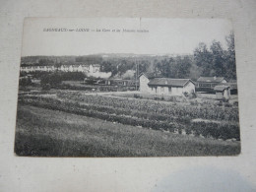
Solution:
[{"label": "darker lower planted row directly bordering the smooth foreground grass", "polygon": [[[38,98],[38,97],[37,97]],[[85,108],[86,105],[80,105],[74,102],[64,102],[52,98],[41,99],[22,99],[23,103],[32,104],[34,106],[49,108],[53,110],[62,110],[65,112],[71,112],[79,115],[85,115],[111,122],[118,122],[122,124],[132,126],[142,126],[152,128],[155,130],[166,130],[170,132],[182,133],[182,130],[186,134],[193,134],[195,136],[202,135],[204,137],[213,137],[215,139],[232,139],[235,138],[239,141],[239,126],[231,125],[227,123],[214,123],[214,122],[192,122],[182,123],[178,121],[168,122],[160,121],[160,119],[144,119],[139,116],[131,117],[124,116],[116,113],[110,113],[109,111],[98,111],[94,108]],[[138,113],[139,114],[139,113]]]}]

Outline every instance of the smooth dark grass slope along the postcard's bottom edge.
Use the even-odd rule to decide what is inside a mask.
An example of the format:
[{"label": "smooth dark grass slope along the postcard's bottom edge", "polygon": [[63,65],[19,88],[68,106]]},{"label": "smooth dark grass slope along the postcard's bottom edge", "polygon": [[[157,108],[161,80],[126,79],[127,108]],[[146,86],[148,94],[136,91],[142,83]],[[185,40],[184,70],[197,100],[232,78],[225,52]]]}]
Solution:
[{"label": "smooth dark grass slope along the postcard's bottom edge", "polygon": [[240,143],[196,138],[18,106],[15,153],[36,157],[231,156]]}]

